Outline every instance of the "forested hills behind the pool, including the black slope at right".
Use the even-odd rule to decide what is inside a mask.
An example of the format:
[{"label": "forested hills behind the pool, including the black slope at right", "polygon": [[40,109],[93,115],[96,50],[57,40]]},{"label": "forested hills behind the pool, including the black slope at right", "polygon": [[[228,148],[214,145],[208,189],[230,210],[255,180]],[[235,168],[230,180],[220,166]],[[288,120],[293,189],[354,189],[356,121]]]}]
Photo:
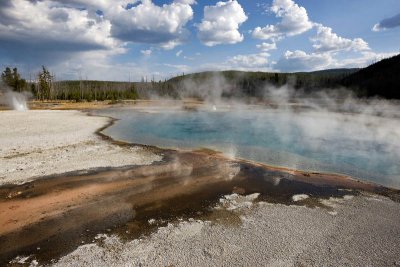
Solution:
[{"label": "forested hills behind the pool, including the black slope at right", "polygon": [[[330,69],[314,72],[203,72],[175,77],[168,82],[180,92],[187,81],[201,86],[206,81],[221,76],[231,90],[225,96],[260,97],[265,86],[280,87],[288,84],[304,93],[346,88],[358,97],[400,99],[400,55],[383,59],[363,69]],[[212,83],[211,83],[212,84]],[[230,95],[229,95],[230,94]]]}]

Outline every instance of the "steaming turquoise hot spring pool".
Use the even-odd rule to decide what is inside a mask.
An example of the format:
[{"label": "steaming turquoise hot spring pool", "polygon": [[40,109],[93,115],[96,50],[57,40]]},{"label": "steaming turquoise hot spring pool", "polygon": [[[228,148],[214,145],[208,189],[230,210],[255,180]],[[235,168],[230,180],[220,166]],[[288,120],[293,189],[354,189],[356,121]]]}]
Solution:
[{"label": "steaming turquoise hot spring pool", "polygon": [[332,112],[261,108],[196,112],[108,110],[105,134],[167,148],[206,147],[293,169],[335,172],[400,188],[400,122]]}]

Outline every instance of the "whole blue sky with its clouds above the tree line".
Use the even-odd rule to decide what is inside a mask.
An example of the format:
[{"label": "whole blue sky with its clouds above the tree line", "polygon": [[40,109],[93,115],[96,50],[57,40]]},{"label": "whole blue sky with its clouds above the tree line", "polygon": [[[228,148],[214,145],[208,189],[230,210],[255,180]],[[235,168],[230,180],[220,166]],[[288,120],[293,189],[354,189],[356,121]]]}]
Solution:
[{"label": "whole blue sky with its clouds above the tree line", "polygon": [[400,53],[399,0],[1,0],[0,65],[57,80],[365,67]]}]

